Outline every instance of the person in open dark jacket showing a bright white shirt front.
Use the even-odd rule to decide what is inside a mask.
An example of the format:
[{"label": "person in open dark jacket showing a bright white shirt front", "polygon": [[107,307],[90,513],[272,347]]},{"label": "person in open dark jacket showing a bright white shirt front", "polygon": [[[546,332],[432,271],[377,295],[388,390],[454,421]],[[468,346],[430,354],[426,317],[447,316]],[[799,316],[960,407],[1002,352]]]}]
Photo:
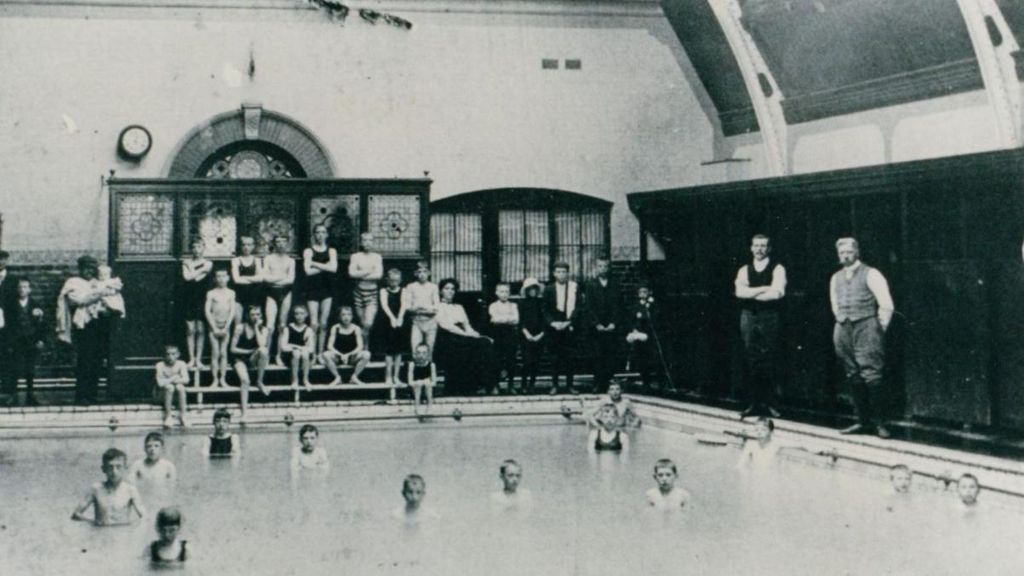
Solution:
[{"label": "person in open dark jacket showing a bright white shirt front", "polygon": [[544,321],[548,324],[548,338],[554,365],[551,374],[551,394],[558,394],[559,377],[565,374],[565,386],[570,393],[575,364],[575,323],[579,310],[580,289],[569,280],[569,264],[555,263],[555,282],[544,290]]}]

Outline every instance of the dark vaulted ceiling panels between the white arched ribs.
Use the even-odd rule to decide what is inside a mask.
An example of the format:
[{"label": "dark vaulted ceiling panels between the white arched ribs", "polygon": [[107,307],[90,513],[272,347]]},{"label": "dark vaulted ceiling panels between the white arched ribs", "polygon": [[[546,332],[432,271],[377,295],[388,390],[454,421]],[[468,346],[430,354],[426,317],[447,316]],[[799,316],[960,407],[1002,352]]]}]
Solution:
[{"label": "dark vaulted ceiling panels between the white arched ribs", "polygon": [[[662,0],[726,135],[756,131],[736,59],[709,5]],[[796,124],[983,87],[956,0],[739,0]],[[996,0],[1018,43],[1024,1]],[[997,34],[997,33],[996,33]],[[1018,52],[1018,71],[1024,57]]]}]

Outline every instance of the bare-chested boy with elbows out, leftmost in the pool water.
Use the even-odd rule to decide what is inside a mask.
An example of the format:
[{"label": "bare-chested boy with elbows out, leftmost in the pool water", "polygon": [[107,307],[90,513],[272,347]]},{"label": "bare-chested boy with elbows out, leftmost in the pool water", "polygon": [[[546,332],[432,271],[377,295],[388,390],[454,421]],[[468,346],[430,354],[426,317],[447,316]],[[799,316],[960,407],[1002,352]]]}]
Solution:
[{"label": "bare-chested boy with elbows out, leftmost in the pool water", "polygon": [[[138,490],[124,481],[128,468],[128,456],[117,448],[103,452],[102,470],[106,476],[103,482],[92,485],[88,496],[75,512],[72,520],[91,522],[96,526],[124,526],[131,524],[137,518],[145,516],[145,508],[138,496]],[[85,516],[92,508],[92,518]]]}]

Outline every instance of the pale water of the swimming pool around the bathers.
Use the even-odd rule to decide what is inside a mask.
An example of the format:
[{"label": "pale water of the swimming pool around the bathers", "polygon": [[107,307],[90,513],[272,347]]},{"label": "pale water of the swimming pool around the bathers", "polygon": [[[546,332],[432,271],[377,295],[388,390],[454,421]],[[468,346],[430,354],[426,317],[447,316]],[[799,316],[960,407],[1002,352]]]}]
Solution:
[{"label": "pale water of the swimming pool around the bathers", "polygon": [[[738,469],[733,447],[644,428],[628,454],[591,454],[570,423],[322,427],[329,474],[293,477],[297,428],[242,434],[237,461],[201,455],[204,436],[171,435],[179,480],[141,486],[147,518],[94,528],[69,520],[99,456],[141,457],[142,436],[0,444],[4,574],[141,574],[161,505],[182,509],[189,574],[1020,574],[1024,522],[994,506],[965,515],[951,494],[889,495],[888,483],[779,460]],[[523,464],[528,515],[499,513],[504,458]],[[647,509],[651,465],[669,457],[692,495],[684,513]],[[421,474],[440,520],[391,512]],[[984,493],[982,499],[984,499]]]}]

